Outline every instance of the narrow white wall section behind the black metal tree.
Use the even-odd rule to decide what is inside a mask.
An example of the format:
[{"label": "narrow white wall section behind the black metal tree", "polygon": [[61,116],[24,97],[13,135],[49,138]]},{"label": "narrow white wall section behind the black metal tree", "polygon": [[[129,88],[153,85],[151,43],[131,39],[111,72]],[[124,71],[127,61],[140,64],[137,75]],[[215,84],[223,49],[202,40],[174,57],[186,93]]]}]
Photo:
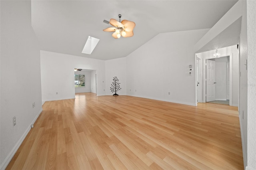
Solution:
[{"label": "narrow white wall section behind the black metal tree", "polygon": [[110,91],[113,77],[118,78],[121,89],[116,93],[126,95],[126,57],[106,61],[106,95],[113,95]]}]

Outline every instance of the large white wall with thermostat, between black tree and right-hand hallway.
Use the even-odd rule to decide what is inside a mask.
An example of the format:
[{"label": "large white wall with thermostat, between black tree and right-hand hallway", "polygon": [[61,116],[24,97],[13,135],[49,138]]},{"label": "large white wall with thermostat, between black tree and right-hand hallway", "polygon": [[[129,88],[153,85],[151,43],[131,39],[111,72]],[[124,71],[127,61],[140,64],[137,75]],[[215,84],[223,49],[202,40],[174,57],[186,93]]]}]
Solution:
[{"label": "large white wall with thermostat, between black tree and right-hand hallway", "polygon": [[196,105],[193,47],[207,31],[158,34],[128,55],[127,95]]}]

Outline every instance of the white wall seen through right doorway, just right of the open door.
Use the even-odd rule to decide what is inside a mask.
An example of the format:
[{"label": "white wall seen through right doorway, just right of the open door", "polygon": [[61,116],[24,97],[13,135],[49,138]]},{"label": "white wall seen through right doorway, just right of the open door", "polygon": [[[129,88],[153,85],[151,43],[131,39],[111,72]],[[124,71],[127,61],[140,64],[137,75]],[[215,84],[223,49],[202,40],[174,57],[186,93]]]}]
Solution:
[{"label": "white wall seen through right doorway, just right of the open door", "polygon": [[[227,96],[227,74],[226,63],[228,57],[220,57],[215,59],[215,100],[226,100]],[[238,82],[237,82],[238,83]]]}]

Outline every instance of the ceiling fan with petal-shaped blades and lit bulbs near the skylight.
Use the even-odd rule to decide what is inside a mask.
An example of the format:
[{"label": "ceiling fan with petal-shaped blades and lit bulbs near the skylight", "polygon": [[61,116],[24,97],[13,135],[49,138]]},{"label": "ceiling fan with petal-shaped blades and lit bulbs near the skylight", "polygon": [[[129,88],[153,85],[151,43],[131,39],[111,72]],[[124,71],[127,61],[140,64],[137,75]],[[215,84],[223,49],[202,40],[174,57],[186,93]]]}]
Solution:
[{"label": "ceiling fan with petal-shaped blades and lit bulbs near the skylight", "polygon": [[113,18],[110,19],[109,24],[111,24],[114,27],[109,27],[104,29],[103,31],[106,32],[114,32],[112,34],[112,37],[114,38],[120,38],[122,37],[132,37],[133,36],[133,29],[135,27],[135,23],[128,20],[121,20],[122,15],[119,14],[119,22]]}]

